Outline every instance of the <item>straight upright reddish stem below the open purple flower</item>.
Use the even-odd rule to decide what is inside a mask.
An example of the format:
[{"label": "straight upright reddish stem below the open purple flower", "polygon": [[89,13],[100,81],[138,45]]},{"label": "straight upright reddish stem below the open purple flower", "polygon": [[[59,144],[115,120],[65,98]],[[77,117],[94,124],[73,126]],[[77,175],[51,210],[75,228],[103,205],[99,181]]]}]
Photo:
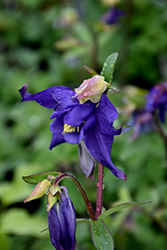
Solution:
[{"label": "straight upright reddish stem below the open purple flower", "polygon": [[104,166],[99,163],[98,166],[98,179],[97,179],[97,200],[96,200],[96,219],[101,214],[102,200],[103,200],[103,170]]}]

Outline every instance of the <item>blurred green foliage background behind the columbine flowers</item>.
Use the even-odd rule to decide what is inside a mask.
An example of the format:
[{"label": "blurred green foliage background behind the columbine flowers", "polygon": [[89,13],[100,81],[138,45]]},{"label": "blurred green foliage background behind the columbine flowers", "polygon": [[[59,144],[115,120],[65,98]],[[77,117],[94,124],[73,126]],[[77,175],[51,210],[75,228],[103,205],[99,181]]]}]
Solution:
[{"label": "blurred green foliage background behind the columbine flowers", "polygon": [[[118,23],[103,15],[117,7]],[[46,200],[23,200],[33,190],[22,176],[42,171],[71,172],[81,181],[95,207],[96,183],[85,179],[77,146],[48,149],[52,113],[34,102],[20,103],[18,89],[36,93],[55,85],[78,87],[88,65],[100,73],[106,57],[118,52],[109,93],[118,108],[114,124],[128,124],[144,94],[167,80],[167,3],[164,0],[2,0],[0,2],[0,249],[51,250]],[[164,129],[165,126],[164,126]],[[108,217],[116,250],[165,250],[167,241],[167,165],[161,138],[150,132],[131,140],[133,128],[115,137],[114,164],[127,174],[117,179],[105,168],[105,208],[119,202],[149,200],[152,204]],[[95,171],[95,177],[97,170]],[[96,179],[96,178],[95,178]],[[70,180],[77,217],[87,218],[85,205]],[[90,192],[91,190],[91,192]],[[77,250],[95,249],[87,224],[77,225]]]}]

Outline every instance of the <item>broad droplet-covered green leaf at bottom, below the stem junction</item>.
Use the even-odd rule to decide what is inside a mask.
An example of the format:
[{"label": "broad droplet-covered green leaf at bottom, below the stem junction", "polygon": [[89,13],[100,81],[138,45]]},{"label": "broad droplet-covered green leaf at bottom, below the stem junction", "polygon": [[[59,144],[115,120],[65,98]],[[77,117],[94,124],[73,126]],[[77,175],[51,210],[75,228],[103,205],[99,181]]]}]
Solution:
[{"label": "broad droplet-covered green leaf at bottom, below the stem junction", "polygon": [[114,249],[114,240],[104,221],[96,220],[90,222],[92,241],[98,250]]}]

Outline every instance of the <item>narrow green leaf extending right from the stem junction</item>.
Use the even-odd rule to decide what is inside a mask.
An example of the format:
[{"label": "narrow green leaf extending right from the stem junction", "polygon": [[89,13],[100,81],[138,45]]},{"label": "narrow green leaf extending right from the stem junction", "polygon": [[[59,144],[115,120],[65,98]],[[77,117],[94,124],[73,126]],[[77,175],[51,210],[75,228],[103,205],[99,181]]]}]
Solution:
[{"label": "narrow green leaf extending right from the stem junction", "polygon": [[148,204],[148,203],[151,203],[151,201],[127,202],[127,203],[118,204],[118,205],[106,210],[98,218],[104,219],[105,217],[109,216],[110,214],[118,212],[121,209],[128,208],[128,207],[134,207],[134,206],[138,206],[138,205],[142,205],[142,204]]}]

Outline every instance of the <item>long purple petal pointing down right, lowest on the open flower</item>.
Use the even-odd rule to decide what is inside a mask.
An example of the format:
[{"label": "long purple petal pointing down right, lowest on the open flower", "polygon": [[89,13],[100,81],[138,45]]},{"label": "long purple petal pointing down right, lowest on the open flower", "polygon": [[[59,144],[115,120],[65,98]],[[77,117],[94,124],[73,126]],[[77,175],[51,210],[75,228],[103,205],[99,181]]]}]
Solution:
[{"label": "long purple petal pointing down right, lowest on the open flower", "polygon": [[[119,129],[120,130],[120,129]],[[120,131],[119,131],[120,132]],[[118,178],[126,180],[126,175],[123,171],[117,169],[111,161],[111,147],[114,137],[101,133],[97,126],[85,132],[84,141],[90,154],[101,164],[106,166]]]}]

